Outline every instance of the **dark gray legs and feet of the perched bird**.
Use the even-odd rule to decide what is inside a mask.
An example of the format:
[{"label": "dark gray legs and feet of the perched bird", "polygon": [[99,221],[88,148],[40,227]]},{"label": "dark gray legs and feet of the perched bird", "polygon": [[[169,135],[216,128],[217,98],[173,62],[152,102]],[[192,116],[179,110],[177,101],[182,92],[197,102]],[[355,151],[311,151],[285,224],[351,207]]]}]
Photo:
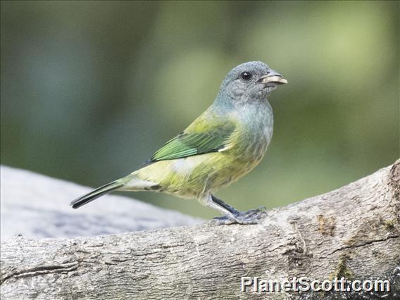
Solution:
[{"label": "dark gray legs and feet of the perched bird", "polygon": [[210,221],[213,225],[228,225],[228,224],[258,224],[265,218],[265,207],[251,209],[250,211],[237,211],[232,206],[226,204],[221,199],[218,199],[213,194],[207,201],[207,205],[215,208],[220,213],[223,213],[223,217],[213,218]]}]

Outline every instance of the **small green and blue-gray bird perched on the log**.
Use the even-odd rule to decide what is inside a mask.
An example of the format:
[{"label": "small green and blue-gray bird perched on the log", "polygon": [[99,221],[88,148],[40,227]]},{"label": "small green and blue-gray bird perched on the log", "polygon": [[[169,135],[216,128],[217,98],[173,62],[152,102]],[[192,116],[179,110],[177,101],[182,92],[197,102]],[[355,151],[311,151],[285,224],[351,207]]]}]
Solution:
[{"label": "small green and blue-gray bird perched on the log", "polygon": [[221,224],[255,224],[263,208],[239,212],[214,196],[249,173],[263,158],[273,136],[267,96],[287,83],[261,61],[237,65],[222,82],[214,103],[182,133],[170,139],[135,172],[71,202],[78,208],[113,190],[153,191],[197,199],[224,216]]}]

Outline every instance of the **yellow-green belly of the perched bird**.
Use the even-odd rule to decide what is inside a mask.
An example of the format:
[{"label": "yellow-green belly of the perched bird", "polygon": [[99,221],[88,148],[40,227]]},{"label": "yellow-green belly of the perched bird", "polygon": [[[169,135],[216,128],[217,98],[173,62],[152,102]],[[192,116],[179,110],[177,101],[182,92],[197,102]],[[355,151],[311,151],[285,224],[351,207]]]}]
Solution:
[{"label": "yellow-green belly of the perched bird", "polygon": [[198,198],[215,192],[249,173],[261,161],[267,142],[258,141],[246,149],[213,152],[158,161],[139,170],[142,180],[157,182],[158,192],[182,198]]}]

